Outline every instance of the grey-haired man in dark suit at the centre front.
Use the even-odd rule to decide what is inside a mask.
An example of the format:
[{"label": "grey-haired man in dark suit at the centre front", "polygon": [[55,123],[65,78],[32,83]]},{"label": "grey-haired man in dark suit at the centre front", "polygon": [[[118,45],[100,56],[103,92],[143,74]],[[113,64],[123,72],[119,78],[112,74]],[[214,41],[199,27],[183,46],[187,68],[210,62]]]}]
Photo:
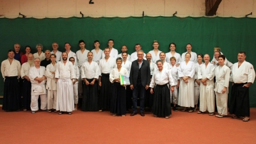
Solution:
[{"label": "grey-haired man in dark suit at the centre front", "polygon": [[[140,44],[136,44],[140,46]],[[150,84],[150,65],[147,60],[143,60],[144,52],[142,50],[137,51],[138,60],[132,61],[130,72],[130,88],[132,91],[132,113],[131,116],[137,114],[137,98],[140,93],[140,115],[145,116],[144,104],[145,104],[145,90],[148,89]]]}]

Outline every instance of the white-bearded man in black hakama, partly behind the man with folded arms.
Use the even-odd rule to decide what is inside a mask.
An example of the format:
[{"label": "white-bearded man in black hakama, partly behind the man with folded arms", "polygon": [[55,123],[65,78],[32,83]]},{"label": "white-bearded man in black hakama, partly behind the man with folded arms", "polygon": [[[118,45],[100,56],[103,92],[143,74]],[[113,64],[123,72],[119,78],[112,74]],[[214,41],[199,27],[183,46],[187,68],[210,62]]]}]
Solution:
[{"label": "white-bearded man in black hakama, partly behind the man with folded arms", "polygon": [[27,111],[30,109],[31,103],[31,81],[29,79],[29,69],[34,66],[34,56],[33,54],[28,54],[28,62],[23,63],[20,69],[20,77],[23,79],[23,95],[22,104],[23,110]]}]

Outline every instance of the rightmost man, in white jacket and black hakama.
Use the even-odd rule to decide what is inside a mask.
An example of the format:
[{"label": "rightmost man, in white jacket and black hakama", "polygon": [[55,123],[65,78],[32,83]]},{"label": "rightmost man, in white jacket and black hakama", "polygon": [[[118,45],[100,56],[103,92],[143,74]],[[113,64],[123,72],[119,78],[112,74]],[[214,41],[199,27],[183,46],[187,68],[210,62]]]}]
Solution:
[{"label": "rightmost man, in white jacket and black hakama", "polygon": [[249,87],[255,80],[255,70],[251,63],[245,61],[246,52],[238,53],[238,62],[232,67],[230,81],[232,91],[229,104],[229,113],[234,114],[232,118],[243,118],[243,122],[250,120]]}]

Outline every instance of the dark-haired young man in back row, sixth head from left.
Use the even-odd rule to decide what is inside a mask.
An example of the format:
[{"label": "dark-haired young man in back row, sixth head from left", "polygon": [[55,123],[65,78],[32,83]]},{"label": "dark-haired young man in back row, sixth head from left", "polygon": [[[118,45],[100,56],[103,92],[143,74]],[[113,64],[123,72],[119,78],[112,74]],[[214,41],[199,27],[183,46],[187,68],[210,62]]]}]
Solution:
[{"label": "dark-haired young man in back row, sixth head from left", "polygon": [[84,42],[84,40],[79,40],[78,44],[79,44],[79,47],[80,47],[80,50],[76,52],[77,66],[78,66],[79,72],[80,72],[80,76],[79,76],[79,79],[78,79],[78,95],[79,95],[79,97],[82,97],[82,94],[83,94],[83,81],[81,79],[81,66],[83,65],[83,63],[85,61],[88,60],[87,54],[90,51],[85,49],[85,42]]}]

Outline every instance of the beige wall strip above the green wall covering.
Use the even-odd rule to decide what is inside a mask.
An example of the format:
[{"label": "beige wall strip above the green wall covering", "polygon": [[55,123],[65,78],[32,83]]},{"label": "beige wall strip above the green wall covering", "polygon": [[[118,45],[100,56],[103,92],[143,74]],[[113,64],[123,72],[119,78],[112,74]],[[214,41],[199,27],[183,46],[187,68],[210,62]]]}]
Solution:
[{"label": "beige wall strip above the green wall covering", "polygon": [[[16,18],[19,12],[27,17],[141,17],[148,16],[200,17],[205,15],[205,0],[0,0],[0,15]],[[219,17],[256,17],[256,0],[223,0]]]}]

